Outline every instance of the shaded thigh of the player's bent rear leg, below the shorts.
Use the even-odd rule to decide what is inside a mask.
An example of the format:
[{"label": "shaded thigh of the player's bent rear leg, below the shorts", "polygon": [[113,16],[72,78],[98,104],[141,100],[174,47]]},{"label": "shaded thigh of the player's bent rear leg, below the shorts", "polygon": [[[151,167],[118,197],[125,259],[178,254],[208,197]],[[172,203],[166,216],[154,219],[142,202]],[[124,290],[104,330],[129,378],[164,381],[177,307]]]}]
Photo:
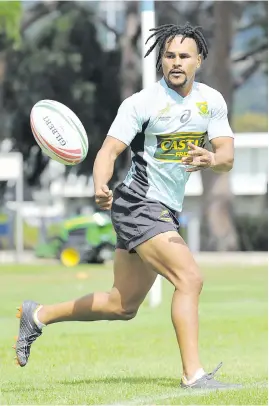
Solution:
[{"label": "shaded thigh of the player's bent rear leg, below the shorts", "polygon": [[152,287],[156,272],[138,254],[116,249],[114,258],[113,296],[123,309],[136,310]]}]

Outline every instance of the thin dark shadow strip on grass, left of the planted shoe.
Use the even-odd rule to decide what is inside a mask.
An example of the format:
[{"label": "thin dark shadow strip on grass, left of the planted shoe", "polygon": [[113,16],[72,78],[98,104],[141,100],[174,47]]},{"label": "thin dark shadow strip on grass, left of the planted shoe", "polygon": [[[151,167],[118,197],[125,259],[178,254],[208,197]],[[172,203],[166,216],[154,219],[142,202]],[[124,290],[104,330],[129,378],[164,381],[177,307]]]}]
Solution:
[{"label": "thin dark shadow strip on grass, left of the planted shoe", "polygon": [[62,385],[96,385],[96,384],[109,384],[109,385],[118,385],[118,384],[128,384],[128,385],[137,385],[137,384],[146,384],[152,385],[157,384],[160,386],[165,386],[167,388],[177,388],[180,384],[180,378],[168,378],[164,376],[151,378],[148,376],[137,376],[137,377],[106,377],[106,378],[86,378],[86,379],[74,379],[74,380],[64,380],[57,381]]}]

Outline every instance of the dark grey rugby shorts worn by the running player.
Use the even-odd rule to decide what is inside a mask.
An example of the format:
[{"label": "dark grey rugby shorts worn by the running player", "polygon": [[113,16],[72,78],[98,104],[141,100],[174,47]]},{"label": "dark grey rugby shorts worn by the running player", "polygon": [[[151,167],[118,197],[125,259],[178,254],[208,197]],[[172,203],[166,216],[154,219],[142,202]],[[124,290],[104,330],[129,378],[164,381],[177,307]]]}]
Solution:
[{"label": "dark grey rugby shorts worn by the running player", "polygon": [[117,234],[116,248],[129,252],[158,234],[178,232],[179,228],[176,211],[138,195],[124,184],[114,191],[111,219]]}]

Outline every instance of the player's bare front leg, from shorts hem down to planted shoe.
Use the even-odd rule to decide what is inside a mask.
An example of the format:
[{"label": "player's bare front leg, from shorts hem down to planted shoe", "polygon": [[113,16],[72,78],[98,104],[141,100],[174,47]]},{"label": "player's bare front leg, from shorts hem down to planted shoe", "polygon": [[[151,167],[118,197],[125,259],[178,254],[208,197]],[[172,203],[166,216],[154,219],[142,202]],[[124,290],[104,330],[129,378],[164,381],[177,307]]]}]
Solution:
[{"label": "player's bare front leg, from shorts hem down to planted shoe", "polygon": [[172,321],[181,352],[183,372],[191,378],[201,363],[198,353],[198,302],[202,277],[183,239],[169,231],[144,242],[136,252],[174,286]]}]

